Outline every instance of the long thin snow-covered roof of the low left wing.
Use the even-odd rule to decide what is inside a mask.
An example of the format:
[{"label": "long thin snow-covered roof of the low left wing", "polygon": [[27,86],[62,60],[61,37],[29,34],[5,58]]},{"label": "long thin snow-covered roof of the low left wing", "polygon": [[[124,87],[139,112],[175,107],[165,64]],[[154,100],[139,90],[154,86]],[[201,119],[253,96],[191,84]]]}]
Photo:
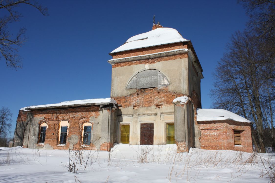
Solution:
[{"label": "long thin snow-covered roof of the low left wing", "polygon": [[117,104],[116,100],[112,98],[94,98],[94,99],[85,99],[85,100],[71,100],[71,101],[65,101],[65,102],[60,102],[56,104],[27,106],[27,107],[21,108],[20,110],[83,106],[83,105],[100,105],[100,104],[107,104],[107,103]]}]

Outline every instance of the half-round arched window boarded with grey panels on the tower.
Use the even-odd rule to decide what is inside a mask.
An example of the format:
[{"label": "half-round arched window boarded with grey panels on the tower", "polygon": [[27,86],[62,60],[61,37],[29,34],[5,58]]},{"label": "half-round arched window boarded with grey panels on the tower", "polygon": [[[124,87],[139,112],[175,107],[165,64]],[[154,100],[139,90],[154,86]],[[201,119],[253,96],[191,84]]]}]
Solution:
[{"label": "half-round arched window boarded with grey panels on the tower", "polygon": [[164,74],[158,70],[150,69],[136,74],[128,83],[127,89],[164,87],[169,84],[170,83]]}]

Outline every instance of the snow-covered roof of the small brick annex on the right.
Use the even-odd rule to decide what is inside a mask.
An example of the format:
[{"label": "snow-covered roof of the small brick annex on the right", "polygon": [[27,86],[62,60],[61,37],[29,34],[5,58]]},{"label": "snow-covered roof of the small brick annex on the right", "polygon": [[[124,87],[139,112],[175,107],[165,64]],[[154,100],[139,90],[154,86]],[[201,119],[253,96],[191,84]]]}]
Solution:
[{"label": "snow-covered roof of the small brick annex on the right", "polygon": [[197,108],[197,121],[217,121],[217,120],[234,120],[238,122],[251,121],[224,109],[200,109]]}]

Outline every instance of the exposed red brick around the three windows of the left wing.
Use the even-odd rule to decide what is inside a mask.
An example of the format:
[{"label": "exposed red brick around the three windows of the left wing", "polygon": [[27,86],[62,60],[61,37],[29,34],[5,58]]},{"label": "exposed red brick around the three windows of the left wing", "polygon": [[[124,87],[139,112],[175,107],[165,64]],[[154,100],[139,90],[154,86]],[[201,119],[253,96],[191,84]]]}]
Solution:
[{"label": "exposed red brick around the three windows of the left wing", "polygon": [[39,124],[42,124],[44,122],[48,124],[44,144],[49,144],[54,149],[64,150],[67,150],[69,148],[69,143],[67,142],[65,146],[57,146],[59,144],[59,125],[61,121],[68,121],[70,126],[68,128],[67,141],[71,135],[77,135],[79,137],[78,143],[74,145],[74,149],[86,148],[95,150],[96,148],[92,144],[89,147],[81,147],[83,143],[82,127],[84,123],[90,121],[90,117],[94,116],[95,118],[97,118],[99,116],[100,112],[98,110],[99,106],[88,106],[66,109],[19,111],[17,121],[25,122],[28,112],[32,112],[33,116],[36,118],[44,118],[43,120],[39,121]]}]

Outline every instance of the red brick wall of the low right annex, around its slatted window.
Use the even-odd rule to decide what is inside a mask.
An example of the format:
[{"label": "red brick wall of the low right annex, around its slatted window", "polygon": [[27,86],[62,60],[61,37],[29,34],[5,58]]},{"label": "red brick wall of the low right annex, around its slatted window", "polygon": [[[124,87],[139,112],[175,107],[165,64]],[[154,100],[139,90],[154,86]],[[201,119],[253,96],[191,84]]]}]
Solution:
[{"label": "red brick wall of the low right annex, around its slatted window", "polygon": [[[202,149],[252,152],[250,123],[233,120],[198,122]],[[234,145],[233,129],[241,130],[241,145]]]}]

